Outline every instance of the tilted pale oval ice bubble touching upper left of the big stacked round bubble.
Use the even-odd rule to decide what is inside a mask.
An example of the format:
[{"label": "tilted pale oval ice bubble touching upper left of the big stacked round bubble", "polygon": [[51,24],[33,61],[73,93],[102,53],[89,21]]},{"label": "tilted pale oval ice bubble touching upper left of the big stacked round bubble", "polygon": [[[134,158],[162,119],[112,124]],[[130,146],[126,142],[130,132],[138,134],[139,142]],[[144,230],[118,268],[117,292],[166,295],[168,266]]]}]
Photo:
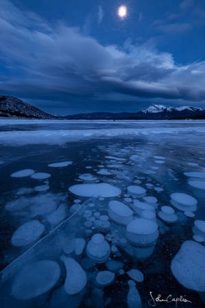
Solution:
[{"label": "tilted pale oval ice bubble touching upper left of the big stacked round bubble", "polygon": [[108,214],[112,220],[124,225],[133,220],[133,211],[120,201],[109,202]]}]

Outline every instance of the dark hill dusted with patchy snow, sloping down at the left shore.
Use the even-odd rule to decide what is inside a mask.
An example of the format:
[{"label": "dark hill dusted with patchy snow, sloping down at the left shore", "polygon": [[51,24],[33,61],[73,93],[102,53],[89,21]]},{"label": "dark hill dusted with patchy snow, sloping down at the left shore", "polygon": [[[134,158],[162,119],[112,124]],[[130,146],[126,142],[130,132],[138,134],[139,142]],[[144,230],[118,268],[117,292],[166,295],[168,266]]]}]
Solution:
[{"label": "dark hill dusted with patchy snow, sloping down at the left shore", "polygon": [[16,99],[0,96],[0,117],[6,118],[55,118],[42,110]]}]

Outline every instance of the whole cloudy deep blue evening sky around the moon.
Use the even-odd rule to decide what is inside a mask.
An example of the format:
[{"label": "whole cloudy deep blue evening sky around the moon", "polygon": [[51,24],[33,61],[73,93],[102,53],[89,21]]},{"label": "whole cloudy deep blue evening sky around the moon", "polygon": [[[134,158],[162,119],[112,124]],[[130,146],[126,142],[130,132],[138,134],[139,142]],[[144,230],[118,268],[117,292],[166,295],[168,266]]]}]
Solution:
[{"label": "whole cloudy deep blue evening sky around the moon", "polygon": [[64,115],[205,108],[204,0],[0,2],[1,95]]}]

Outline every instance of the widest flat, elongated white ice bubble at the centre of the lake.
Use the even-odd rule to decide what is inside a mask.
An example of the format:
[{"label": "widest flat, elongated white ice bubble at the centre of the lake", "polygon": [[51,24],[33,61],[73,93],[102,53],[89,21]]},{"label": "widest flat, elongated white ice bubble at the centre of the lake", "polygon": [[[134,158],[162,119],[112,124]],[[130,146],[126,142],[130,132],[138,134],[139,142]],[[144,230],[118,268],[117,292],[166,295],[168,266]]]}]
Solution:
[{"label": "widest flat, elongated white ice bubble at the centre of the lake", "polygon": [[120,188],[111,186],[108,183],[73,185],[69,190],[73,194],[77,194],[77,196],[111,197],[121,194]]}]

